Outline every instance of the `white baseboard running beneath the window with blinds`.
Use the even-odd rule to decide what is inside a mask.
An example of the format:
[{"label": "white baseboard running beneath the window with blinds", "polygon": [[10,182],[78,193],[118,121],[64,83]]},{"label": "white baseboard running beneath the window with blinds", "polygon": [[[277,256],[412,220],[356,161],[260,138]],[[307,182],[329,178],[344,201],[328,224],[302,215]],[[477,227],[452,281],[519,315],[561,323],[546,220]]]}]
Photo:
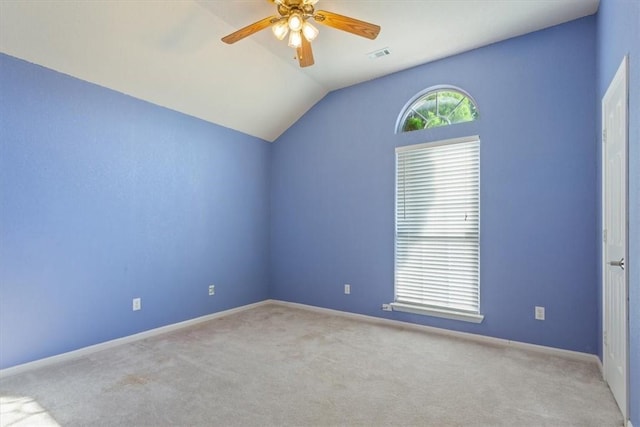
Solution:
[{"label": "white baseboard running beneath the window with blinds", "polygon": [[279,301],[279,300],[267,300],[267,301],[277,305],[282,305],[287,307],[297,307],[303,310],[310,310],[310,311],[315,311],[315,312],[325,313],[325,314],[334,314],[337,316],[349,317],[352,319],[359,319],[359,320],[364,320],[372,323],[379,323],[383,325],[394,325],[397,327],[429,332],[432,334],[462,338],[469,341],[476,341],[480,343],[488,343],[488,344],[494,344],[494,345],[497,344],[505,347],[513,347],[513,348],[518,348],[522,350],[530,350],[538,353],[545,353],[553,356],[560,356],[560,357],[579,360],[583,362],[600,363],[600,358],[595,354],[582,353],[579,351],[564,350],[561,348],[547,347],[547,346],[537,345],[537,344],[529,344],[529,343],[520,342],[520,341],[506,340],[503,338],[488,337],[485,335],[471,334],[468,332],[452,331],[449,329],[436,328],[433,326],[418,325],[415,323],[401,322],[399,320],[384,319],[381,317],[374,317],[374,316],[367,316],[365,314],[356,314],[356,313],[350,313],[346,311],[332,310],[329,308],[316,307],[312,305],[299,304],[294,302]]}]

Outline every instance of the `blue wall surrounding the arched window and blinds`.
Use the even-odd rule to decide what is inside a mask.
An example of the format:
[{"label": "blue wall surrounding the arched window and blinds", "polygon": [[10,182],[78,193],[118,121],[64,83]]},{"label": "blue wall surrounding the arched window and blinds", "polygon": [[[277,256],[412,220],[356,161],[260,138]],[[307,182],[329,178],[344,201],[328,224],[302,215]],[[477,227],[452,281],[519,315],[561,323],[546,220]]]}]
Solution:
[{"label": "blue wall surrounding the arched window and blinds", "polygon": [[[273,146],[271,296],[595,353],[595,35],[592,16],[329,94]],[[439,84],[467,90],[480,120],[395,135],[407,100]],[[474,134],[484,322],[382,312],[395,147]]]}]

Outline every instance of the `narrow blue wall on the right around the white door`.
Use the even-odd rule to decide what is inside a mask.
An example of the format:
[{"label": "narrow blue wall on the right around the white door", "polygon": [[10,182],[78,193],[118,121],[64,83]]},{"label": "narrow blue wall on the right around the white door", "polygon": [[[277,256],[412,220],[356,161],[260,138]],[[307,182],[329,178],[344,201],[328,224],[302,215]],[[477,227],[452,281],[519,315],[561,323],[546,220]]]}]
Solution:
[{"label": "narrow blue wall on the right around the white door", "polygon": [[[629,259],[627,261],[631,379],[629,400],[630,419],[637,426],[640,425],[640,2],[601,0],[597,19],[598,118],[601,115],[600,100],[620,66],[623,56],[629,55]],[[600,129],[600,122],[598,125]],[[598,139],[598,167],[601,161],[600,144],[601,140]],[[598,213],[600,209],[599,205]],[[598,251],[601,254],[602,247],[599,239],[598,244]],[[601,277],[600,270],[598,277]],[[601,306],[602,295],[599,294],[598,307]],[[598,350],[602,357],[601,342],[602,339],[599,338]]]}]

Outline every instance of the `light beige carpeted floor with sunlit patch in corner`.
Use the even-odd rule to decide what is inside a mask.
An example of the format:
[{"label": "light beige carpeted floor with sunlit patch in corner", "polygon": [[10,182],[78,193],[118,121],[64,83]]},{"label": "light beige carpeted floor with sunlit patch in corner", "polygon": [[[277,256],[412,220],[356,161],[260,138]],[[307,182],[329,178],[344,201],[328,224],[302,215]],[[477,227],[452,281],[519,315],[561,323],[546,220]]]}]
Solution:
[{"label": "light beige carpeted floor with sunlit patch in corner", "polygon": [[0,399],[3,427],[622,425],[593,363],[275,304],[6,377]]}]

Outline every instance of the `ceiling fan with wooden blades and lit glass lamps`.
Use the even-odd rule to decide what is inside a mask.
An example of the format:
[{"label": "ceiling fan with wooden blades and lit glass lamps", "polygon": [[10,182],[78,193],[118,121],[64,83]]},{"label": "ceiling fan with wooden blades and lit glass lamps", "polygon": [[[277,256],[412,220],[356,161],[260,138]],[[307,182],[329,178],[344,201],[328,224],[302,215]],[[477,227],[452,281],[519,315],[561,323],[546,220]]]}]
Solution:
[{"label": "ceiling fan with wooden blades and lit glass lamps", "polygon": [[276,4],[278,15],[269,16],[241,28],[223,37],[222,41],[232,44],[270,26],[278,40],[283,40],[289,33],[289,46],[296,49],[300,66],[308,67],[314,63],[311,42],[318,36],[318,29],[311,25],[310,19],[371,40],[378,37],[380,33],[379,25],[325,10],[316,11],[314,6],[318,0],[269,1]]}]

